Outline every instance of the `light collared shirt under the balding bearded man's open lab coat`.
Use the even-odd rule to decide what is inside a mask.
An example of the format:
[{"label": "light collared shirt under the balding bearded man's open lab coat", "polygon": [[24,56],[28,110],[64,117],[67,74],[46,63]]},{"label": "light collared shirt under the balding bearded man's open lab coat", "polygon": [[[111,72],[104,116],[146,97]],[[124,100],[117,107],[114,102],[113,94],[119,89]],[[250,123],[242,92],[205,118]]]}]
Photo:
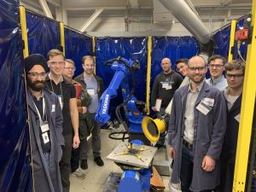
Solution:
[{"label": "light collared shirt under the balding bearded man's open lab coat", "polygon": [[202,88],[203,82],[198,85],[195,91],[191,90],[191,83],[189,84],[189,93],[187,96],[186,108],[184,113],[184,140],[188,143],[193,144],[194,140],[194,109],[195,109],[195,102],[199,95],[199,92]]}]

